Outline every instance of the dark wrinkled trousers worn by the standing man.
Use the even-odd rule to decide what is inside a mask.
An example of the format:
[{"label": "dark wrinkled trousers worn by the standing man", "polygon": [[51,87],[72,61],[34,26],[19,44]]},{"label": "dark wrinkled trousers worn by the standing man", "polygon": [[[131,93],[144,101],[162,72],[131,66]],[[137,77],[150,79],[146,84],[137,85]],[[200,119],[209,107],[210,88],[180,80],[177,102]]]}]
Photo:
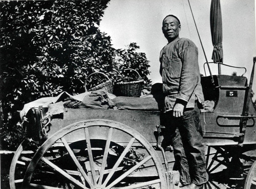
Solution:
[{"label": "dark wrinkled trousers worn by the standing man", "polygon": [[162,147],[174,148],[175,169],[180,172],[183,184],[194,182],[197,185],[208,181],[206,173],[200,110],[197,107],[184,111],[182,117],[174,117],[173,111],[163,113],[161,125],[165,126]]}]

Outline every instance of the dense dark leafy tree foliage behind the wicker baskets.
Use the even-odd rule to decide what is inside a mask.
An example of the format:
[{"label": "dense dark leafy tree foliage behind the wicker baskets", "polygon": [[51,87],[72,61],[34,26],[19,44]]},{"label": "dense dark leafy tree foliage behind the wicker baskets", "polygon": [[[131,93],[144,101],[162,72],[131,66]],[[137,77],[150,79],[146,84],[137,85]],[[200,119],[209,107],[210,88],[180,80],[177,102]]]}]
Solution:
[{"label": "dense dark leafy tree foliage behind the wicker baskets", "polygon": [[145,80],[144,88],[150,88],[148,61],[144,53],[136,52],[139,46],[131,43],[126,50],[116,50],[111,37],[99,30],[108,2],[0,2],[4,128],[11,123],[8,113],[22,109],[25,103],[61,91],[84,92],[84,81],[93,72],[104,73],[115,82],[124,68],[134,68]]}]

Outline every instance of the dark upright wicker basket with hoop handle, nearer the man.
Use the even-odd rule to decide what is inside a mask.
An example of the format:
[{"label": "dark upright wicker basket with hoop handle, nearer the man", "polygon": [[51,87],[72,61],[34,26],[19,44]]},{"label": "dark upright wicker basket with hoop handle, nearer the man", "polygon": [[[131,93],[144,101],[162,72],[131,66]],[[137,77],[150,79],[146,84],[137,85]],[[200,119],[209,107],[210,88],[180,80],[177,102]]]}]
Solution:
[{"label": "dark upright wicker basket with hoop handle, nearer the man", "polygon": [[[127,68],[135,71],[139,78],[139,73],[132,68]],[[127,70],[124,69],[124,70]],[[116,96],[124,96],[124,97],[139,97],[141,95],[141,88],[144,80],[138,80],[138,81],[130,81],[130,82],[118,82],[115,84],[114,87],[114,94]]]}]

